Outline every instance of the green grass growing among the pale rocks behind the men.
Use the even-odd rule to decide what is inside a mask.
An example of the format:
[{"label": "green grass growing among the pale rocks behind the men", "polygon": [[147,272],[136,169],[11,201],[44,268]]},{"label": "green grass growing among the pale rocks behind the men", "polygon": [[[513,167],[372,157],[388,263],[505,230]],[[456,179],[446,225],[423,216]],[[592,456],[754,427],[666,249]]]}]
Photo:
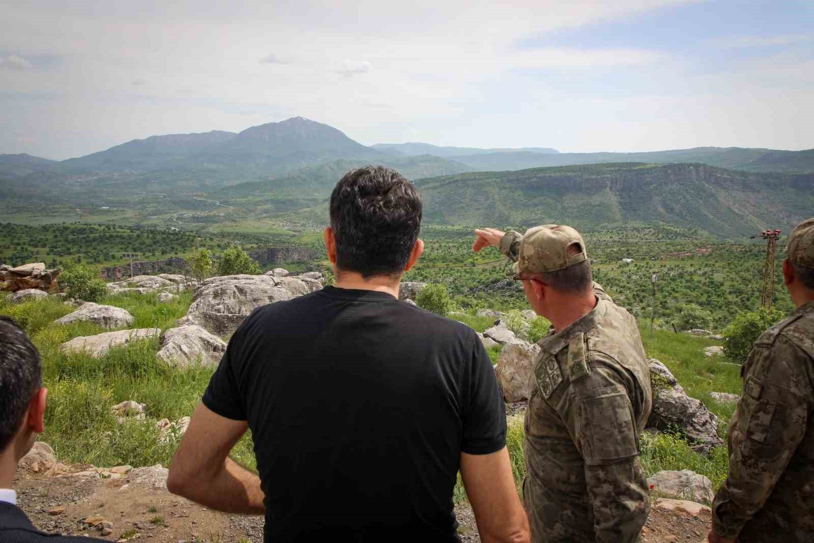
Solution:
[{"label": "green grass growing among the pale rocks behind the men", "polygon": [[[107,296],[101,300],[127,309],[135,317],[133,328],[158,327],[166,330],[186,313],[190,293],[178,300],[159,303],[155,295]],[[70,313],[72,308],[55,299],[11,304],[0,293],[0,314],[15,318],[31,335],[40,349],[44,362],[44,385],[49,388],[49,408],[46,432],[41,439],[51,444],[62,462],[90,462],[95,466],[129,464],[146,466],[168,465],[177,446],[177,436],[162,442],[155,423],[161,418],[176,420],[189,415],[198,404],[208,384],[212,369],[191,367],[177,370],[156,360],[158,339],[151,339],[113,348],[106,356],[93,359],[83,354],[64,354],[59,344],[81,335],[98,334],[103,329],[88,323],[56,326],[52,322]],[[452,318],[466,322],[477,331],[492,325],[491,317],[455,313]],[[545,319],[538,319],[532,335],[539,337]],[[732,407],[711,401],[709,392],[740,392],[737,366],[722,364],[703,357],[702,348],[711,344],[684,334],[643,329],[642,336],[650,357],[659,358],[684,386],[690,396],[702,400],[725,422]],[[532,338],[535,339],[535,338]],[[497,361],[499,348],[490,355]],[[128,420],[118,424],[109,408],[121,401],[133,400],[147,404],[144,421]],[[508,445],[514,475],[518,485],[525,474],[523,460],[523,421],[509,420]],[[694,453],[677,436],[662,434],[645,436],[642,441],[642,462],[648,475],[663,469],[691,469],[707,475],[716,486],[724,480],[727,456],[723,448],[711,457]],[[256,466],[251,436],[245,436],[232,452],[244,466]],[[456,490],[463,499],[462,488]]]}]

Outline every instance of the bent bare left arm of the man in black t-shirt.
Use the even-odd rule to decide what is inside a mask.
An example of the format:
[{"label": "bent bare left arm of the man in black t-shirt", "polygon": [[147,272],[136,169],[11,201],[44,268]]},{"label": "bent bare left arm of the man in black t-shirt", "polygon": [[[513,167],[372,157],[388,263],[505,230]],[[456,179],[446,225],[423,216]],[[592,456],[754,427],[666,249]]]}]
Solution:
[{"label": "bent bare left arm of the man in black t-shirt", "polygon": [[247,428],[199,404],[169,467],[169,491],[226,513],[265,513],[260,478],[228,458]]}]

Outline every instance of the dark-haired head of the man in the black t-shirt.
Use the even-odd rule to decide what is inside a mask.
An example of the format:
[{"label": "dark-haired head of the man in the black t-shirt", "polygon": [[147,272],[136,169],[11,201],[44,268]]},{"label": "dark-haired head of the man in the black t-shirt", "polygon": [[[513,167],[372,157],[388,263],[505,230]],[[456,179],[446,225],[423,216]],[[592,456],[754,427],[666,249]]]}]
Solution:
[{"label": "dark-haired head of the man in the black t-shirt", "polygon": [[330,195],[325,231],[337,277],[397,283],[423,251],[421,216],[421,195],[396,170],[365,166],[345,174]]}]

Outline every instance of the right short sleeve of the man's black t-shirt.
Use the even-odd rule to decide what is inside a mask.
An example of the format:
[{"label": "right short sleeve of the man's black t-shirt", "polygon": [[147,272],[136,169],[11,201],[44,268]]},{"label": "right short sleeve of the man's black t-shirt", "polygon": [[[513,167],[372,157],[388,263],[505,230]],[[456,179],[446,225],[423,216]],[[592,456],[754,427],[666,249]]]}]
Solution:
[{"label": "right short sleeve of the man's black t-shirt", "polygon": [[501,388],[484,344],[472,335],[470,363],[462,375],[465,410],[461,450],[467,454],[489,454],[506,444],[506,414]]}]

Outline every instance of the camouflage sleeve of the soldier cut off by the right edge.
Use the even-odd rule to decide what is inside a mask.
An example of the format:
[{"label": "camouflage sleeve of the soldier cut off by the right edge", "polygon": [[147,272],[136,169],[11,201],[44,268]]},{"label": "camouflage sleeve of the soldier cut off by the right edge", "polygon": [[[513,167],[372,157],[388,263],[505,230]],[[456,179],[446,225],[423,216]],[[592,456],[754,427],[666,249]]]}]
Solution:
[{"label": "camouflage sleeve of the soldier cut off by the right edge", "polygon": [[712,529],[736,537],[760,510],[805,437],[812,408],[806,353],[784,335],[752,349],[729,424],[729,476],[712,502]]}]

